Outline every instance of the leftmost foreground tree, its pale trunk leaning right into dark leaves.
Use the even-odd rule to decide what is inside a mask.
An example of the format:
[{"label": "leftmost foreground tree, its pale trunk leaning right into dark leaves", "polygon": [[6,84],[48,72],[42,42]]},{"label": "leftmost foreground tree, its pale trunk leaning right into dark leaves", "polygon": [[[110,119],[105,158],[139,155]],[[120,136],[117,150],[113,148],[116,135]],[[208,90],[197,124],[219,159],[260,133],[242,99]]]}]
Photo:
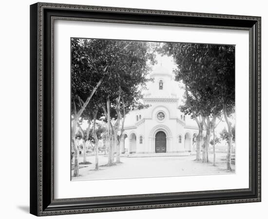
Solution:
[{"label": "leftmost foreground tree, its pale trunk leaning right into dark leaves", "polygon": [[[95,40],[71,39],[72,43],[72,144],[75,150],[74,176],[79,175],[79,150],[76,141],[77,122],[89,104],[92,96],[109,73],[110,63],[107,54],[102,54],[101,47],[108,49],[107,44]],[[89,53],[88,47],[91,48]],[[83,100],[83,104],[81,104]]]}]

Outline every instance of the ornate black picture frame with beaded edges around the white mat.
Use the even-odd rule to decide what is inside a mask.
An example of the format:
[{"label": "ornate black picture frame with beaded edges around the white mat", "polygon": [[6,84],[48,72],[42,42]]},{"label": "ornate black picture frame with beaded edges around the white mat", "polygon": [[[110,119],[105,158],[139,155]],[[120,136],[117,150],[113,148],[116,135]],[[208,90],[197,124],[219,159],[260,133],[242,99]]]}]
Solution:
[{"label": "ornate black picture frame with beaded edges around the white mat", "polygon": [[[54,198],[54,21],[249,31],[249,188]],[[261,201],[261,18],[87,5],[30,6],[30,213],[37,216]]]}]

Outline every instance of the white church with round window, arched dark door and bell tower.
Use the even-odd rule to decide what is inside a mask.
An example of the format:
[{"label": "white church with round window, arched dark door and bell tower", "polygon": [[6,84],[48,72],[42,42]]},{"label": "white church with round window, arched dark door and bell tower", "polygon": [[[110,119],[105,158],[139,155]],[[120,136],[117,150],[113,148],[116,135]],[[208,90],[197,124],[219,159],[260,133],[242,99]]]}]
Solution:
[{"label": "white church with round window, arched dark door and bell tower", "polygon": [[190,116],[179,109],[178,82],[172,72],[162,66],[154,68],[143,102],[147,109],[133,110],[126,115],[121,152],[179,153],[195,152],[193,140],[198,127]]}]

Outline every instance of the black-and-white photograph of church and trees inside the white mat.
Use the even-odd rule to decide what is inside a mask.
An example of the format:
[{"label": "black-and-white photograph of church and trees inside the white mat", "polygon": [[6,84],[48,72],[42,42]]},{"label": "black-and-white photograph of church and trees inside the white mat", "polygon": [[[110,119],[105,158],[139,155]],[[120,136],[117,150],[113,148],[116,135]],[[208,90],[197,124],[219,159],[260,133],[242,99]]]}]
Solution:
[{"label": "black-and-white photograph of church and trees inside the white mat", "polygon": [[236,173],[235,45],[70,45],[71,181]]}]

